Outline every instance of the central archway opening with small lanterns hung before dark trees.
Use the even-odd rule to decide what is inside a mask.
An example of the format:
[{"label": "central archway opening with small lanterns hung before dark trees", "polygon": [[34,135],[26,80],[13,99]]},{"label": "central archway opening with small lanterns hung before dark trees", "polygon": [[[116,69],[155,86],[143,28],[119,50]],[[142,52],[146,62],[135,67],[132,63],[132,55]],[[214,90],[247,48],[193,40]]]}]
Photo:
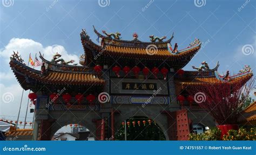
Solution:
[{"label": "central archway opening with small lanterns hung before dark trees", "polygon": [[125,132],[126,140],[166,140],[158,124],[152,119],[142,116],[126,119],[120,124],[114,137],[116,140],[125,140]]}]

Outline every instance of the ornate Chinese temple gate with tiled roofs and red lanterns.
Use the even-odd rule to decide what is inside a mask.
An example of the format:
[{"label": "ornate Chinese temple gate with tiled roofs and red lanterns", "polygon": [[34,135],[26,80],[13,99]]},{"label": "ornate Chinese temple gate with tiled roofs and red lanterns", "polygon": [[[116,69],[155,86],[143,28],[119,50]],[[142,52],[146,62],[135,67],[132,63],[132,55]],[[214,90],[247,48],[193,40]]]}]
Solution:
[{"label": "ornate Chinese temple gate with tiled roofs and red lanterns", "polygon": [[132,41],[124,41],[118,32],[94,31],[99,44],[85,30],[80,33],[81,65],[69,65],[73,61],[65,62],[59,53],[51,61],[41,55],[38,71],[16,53],[10,58],[19,84],[36,95],[33,140],[50,140],[60,126],[73,123],[86,126],[97,140],[114,139],[122,123],[134,116],[149,118],[144,124],[156,123],[166,140],[187,140],[192,123],[215,124],[187,95],[187,86],[252,77],[250,68],[221,76],[218,63],[213,69],[203,62],[193,66],[195,71],[182,70],[199,51],[199,39],[179,50],[177,43],[171,45],[173,35],[166,41],[150,36],[151,42],[142,42],[137,33]]}]

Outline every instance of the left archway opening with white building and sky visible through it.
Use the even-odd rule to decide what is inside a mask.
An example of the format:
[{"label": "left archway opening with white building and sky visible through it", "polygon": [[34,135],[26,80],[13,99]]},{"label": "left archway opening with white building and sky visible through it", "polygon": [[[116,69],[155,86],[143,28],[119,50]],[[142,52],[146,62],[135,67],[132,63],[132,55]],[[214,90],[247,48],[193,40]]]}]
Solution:
[{"label": "left archway opening with white building and sky visible through it", "polygon": [[95,140],[95,138],[85,126],[68,124],[56,131],[51,140]]}]

